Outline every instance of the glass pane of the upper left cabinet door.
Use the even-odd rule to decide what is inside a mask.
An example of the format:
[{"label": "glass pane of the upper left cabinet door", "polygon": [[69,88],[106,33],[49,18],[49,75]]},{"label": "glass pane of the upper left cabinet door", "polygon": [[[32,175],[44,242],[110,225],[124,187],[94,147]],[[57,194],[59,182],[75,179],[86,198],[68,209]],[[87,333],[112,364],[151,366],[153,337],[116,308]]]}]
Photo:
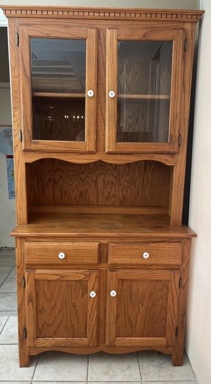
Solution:
[{"label": "glass pane of the upper left cabinet door", "polygon": [[85,140],[86,40],[31,37],[32,139]]}]

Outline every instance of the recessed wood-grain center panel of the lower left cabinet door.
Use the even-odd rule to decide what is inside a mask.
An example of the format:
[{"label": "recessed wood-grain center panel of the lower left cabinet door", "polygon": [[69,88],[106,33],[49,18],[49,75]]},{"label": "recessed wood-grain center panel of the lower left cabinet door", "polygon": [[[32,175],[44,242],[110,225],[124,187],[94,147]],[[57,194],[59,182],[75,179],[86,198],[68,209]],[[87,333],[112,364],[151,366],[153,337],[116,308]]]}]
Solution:
[{"label": "recessed wood-grain center panel of the lower left cabinet door", "polygon": [[37,280],[37,337],[87,337],[88,281]]}]

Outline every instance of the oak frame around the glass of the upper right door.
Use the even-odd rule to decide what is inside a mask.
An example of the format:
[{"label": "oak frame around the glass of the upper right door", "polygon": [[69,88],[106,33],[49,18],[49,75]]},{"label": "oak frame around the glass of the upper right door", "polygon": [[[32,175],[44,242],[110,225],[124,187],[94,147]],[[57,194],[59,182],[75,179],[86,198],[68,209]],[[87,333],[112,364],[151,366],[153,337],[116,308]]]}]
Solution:
[{"label": "oak frame around the glass of the upper right door", "polygon": [[[140,29],[107,28],[106,29],[106,152],[177,152],[180,131],[180,103],[182,94],[183,60],[184,60],[183,28],[167,29],[146,27]],[[173,41],[172,78],[169,118],[169,142],[116,142],[117,137],[117,42],[132,41]],[[112,68],[112,70],[111,70]],[[115,97],[109,97],[110,90]]]}]

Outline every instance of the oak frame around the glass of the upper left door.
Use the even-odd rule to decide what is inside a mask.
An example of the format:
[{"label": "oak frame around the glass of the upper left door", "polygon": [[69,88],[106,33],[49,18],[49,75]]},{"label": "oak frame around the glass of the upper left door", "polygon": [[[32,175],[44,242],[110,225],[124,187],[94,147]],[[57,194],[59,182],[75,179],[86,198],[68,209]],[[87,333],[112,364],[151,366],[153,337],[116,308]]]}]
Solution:
[{"label": "oak frame around the glass of the upper left door", "polygon": [[[95,152],[97,99],[97,28],[62,27],[60,25],[20,25],[20,84],[21,126],[23,149]],[[32,92],[30,37],[86,39],[85,141],[56,141],[32,139]],[[87,95],[88,89],[94,95]]]}]

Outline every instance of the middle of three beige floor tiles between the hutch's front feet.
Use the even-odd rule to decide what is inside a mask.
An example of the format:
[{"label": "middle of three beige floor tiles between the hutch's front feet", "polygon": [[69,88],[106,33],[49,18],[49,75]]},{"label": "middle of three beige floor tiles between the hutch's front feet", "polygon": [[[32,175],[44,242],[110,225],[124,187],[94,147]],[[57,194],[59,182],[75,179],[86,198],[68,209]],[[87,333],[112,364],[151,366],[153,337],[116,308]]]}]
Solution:
[{"label": "middle of three beige floor tiles between the hutch's front feet", "polygon": [[88,381],[140,381],[136,353],[91,354],[89,357]]}]

